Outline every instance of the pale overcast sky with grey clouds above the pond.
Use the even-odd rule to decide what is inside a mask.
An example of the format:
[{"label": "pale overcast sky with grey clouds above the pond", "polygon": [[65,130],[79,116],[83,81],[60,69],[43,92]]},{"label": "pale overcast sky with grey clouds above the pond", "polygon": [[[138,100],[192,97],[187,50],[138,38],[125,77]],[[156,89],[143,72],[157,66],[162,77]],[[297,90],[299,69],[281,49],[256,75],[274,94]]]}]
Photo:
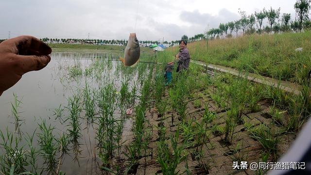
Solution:
[{"label": "pale overcast sky with grey clouds above the pond", "polygon": [[[295,18],[296,0],[0,0],[0,39],[39,38],[178,40],[263,8]],[[267,25],[264,23],[264,25]]]}]

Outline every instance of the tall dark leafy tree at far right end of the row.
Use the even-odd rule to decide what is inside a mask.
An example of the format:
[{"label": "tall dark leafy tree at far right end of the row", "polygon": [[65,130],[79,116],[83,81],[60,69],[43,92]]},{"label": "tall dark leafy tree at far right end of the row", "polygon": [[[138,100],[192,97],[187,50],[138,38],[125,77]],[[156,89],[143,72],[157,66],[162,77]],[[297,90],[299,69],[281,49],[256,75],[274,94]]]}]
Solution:
[{"label": "tall dark leafy tree at far right end of the row", "polygon": [[296,14],[299,17],[299,29],[302,30],[302,21],[303,19],[309,19],[308,14],[310,10],[310,2],[311,0],[297,0],[294,4],[294,8],[296,9]]}]

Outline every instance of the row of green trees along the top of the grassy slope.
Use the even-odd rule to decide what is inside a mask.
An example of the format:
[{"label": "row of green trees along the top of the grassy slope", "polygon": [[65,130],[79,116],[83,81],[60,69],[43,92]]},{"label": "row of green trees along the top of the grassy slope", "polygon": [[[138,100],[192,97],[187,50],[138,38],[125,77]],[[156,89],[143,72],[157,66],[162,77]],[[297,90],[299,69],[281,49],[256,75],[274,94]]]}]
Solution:
[{"label": "row of green trees along the top of the grassy slope", "polygon": [[[199,34],[194,37],[188,38],[183,35],[181,39],[186,39],[188,42],[200,40],[208,37],[213,38],[226,38],[232,37],[233,34],[238,36],[239,32],[242,35],[263,34],[263,33],[280,33],[280,32],[301,32],[311,29],[311,21],[309,18],[311,0],[297,0],[294,4],[296,17],[293,19],[290,13],[280,14],[280,8],[268,10],[263,8],[259,12],[247,15],[245,11],[239,9],[241,19],[230,21],[227,23],[220,23],[218,28],[208,30],[205,35]],[[268,25],[264,26],[263,21],[267,19]]]}]

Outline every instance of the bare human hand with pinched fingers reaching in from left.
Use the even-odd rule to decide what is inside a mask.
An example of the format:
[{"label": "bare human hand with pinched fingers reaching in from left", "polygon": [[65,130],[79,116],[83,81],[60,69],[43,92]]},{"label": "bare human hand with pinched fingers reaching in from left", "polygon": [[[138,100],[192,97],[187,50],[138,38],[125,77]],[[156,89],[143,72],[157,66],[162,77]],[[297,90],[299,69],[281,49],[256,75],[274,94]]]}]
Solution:
[{"label": "bare human hand with pinched fingers reaching in from left", "polygon": [[34,36],[18,36],[0,43],[0,95],[24,73],[41,70],[50,61],[52,49]]}]

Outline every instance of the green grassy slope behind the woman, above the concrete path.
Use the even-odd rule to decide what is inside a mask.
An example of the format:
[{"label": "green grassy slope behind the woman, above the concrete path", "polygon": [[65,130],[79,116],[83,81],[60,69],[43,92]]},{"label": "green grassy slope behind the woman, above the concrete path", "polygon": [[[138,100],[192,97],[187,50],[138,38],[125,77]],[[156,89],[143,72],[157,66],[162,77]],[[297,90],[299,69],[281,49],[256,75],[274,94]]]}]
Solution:
[{"label": "green grassy slope behind the woman, above the concrete path", "polygon": [[[261,75],[303,84],[311,69],[311,32],[247,35],[188,44],[191,58],[216,65],[248,69]],[[295,52],[296,48],[303,52]],[[177,48],[166,54],[174,55]]]}]

